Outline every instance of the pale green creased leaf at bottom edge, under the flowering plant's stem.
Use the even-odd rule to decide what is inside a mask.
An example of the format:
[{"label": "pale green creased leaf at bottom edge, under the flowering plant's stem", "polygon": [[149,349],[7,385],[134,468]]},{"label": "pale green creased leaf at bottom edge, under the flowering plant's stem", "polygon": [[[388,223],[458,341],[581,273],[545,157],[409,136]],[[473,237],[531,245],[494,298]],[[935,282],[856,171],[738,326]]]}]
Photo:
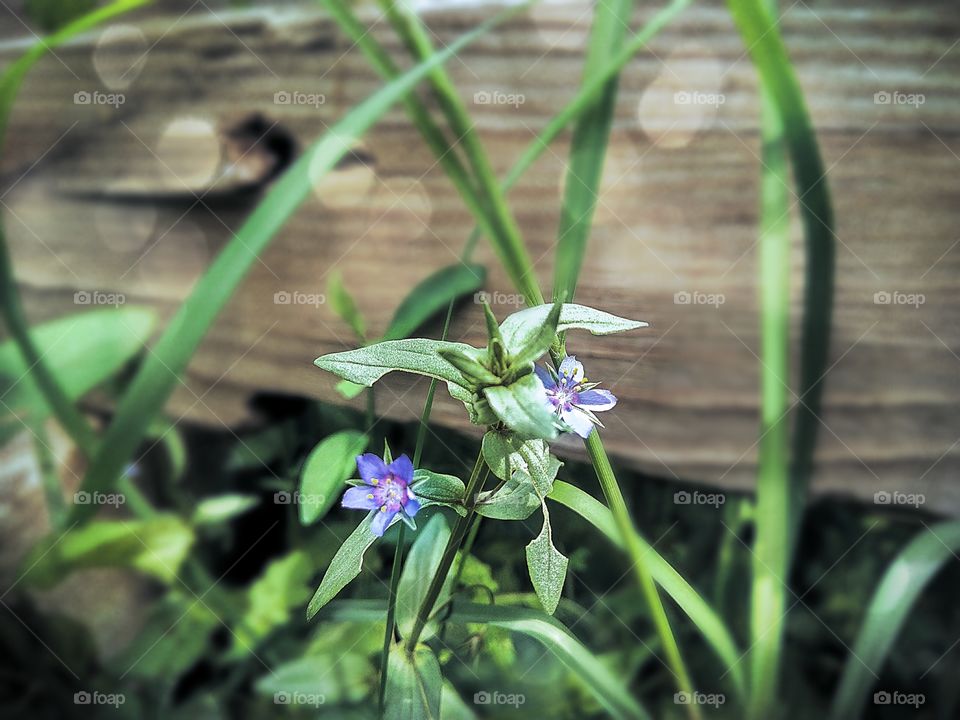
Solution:
[{"label": "pale green creased leaf at bottom edge, under the flowering plant's stem", "polygon": [[433,650],[419,645],[411,657],[394,647],[389,668],[384,720],[439,720],[443,674]]}]

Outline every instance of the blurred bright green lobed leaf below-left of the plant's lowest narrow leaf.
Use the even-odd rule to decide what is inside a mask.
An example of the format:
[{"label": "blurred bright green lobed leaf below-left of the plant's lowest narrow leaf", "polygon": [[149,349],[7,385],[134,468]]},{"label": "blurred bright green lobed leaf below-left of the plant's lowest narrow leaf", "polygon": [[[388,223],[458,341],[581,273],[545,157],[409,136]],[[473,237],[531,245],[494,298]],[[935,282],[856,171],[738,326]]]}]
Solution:
[{"label": "blurred bright green lobed leaf below-left of the plant's lowest narrow leaf", "polygon": [[271,632],[286,625],[310,596],[313,574],[302,550],[272,560],[247,590],[247,607],[234,632],[234,654],[246,656]]}]

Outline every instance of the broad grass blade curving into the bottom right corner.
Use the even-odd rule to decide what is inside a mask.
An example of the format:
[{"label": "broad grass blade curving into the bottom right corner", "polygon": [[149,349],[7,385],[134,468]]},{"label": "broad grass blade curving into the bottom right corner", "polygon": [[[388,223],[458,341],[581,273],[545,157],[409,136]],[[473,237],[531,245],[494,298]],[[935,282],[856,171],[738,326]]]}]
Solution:
[{"label": "broad grass blade curving into the bottom right corner", "polygon": [[924,588],[960,552],[960,522],[927,527],[887,568],[847,658],[830,720],[859,718],[894,641]]}]

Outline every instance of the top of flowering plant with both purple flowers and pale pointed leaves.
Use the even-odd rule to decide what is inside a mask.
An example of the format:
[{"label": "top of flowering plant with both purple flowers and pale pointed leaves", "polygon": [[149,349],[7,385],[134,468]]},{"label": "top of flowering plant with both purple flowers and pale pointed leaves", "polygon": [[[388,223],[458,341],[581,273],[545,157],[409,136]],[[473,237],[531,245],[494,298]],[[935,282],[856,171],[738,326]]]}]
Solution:
[{"label": "top of flowering plant with both purple flowers and pale pointed leaves", "polygon": [[[427,503],[450,507],[462,518],[476,513],[497,520],[526,520],[540,509],[543,528],[526,547],[527,566],[544,609],[551,614],[556,610],[567,558],[553,543],[546,504],[562,465],[550,452],[548,441],[569,430],[587,437],[595,422],[590,408],[609,409],[616,401],[611,393],[601,393],[595,389],[596,383],[585,380],[576,358],[564,358],[552,374],[535,363],[548,353],[558,333],[586,330],[609,335],[647,323],[564,303],[521,310],[502,323],[484,304],[484,315],[488,339],[483,348],[410,338],[332,353],[315,361],[341,379],[367,387],[395,371],[443,381],[451,397],[463,403],[470,422],[486,432],[466,483],[426,469],[415,470],[406,455],[391,460],[389,451],[383,459],[370,453],[357,458],[360,480],[350,481],[343,505],[370,514],[328,568],[310,603],[311,616],[355,577],[355,572],[350,573],[359,572],[357,557],[362,557],[375,538],[400,520],[415,529],[413,517]],[[483,488],[480,478],[486,473],[499,480],[495,489]],[[451,546],[451,556],[456,549]],[[424,616],[433,612],[426,605],[429,603],[422,608]]]}]

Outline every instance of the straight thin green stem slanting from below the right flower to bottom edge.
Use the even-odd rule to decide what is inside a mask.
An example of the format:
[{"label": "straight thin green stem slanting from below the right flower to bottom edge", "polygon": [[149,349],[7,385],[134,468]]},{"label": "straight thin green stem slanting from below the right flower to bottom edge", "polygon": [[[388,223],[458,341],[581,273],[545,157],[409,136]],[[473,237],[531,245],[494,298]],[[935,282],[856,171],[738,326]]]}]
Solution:
[{"label": "straight thin green stem slanting from below the right flower to bottom edge", "polygon": [[[603,489],[603,496],[607,500],[610,512],[617,524],[617,530],[623,539],[624,547],[630,555],[633,563],[633,572],[643,592],[644,599],[650,608],[653,625],[657,629],[657,634],[663,642],[663,649],[667,655],[667,664],[673,672],[677,687],[680,692],[692,693],[693,683],[687,672],[687,667],[680,655],[680,648],[677,645],[676,638],[670,628],[670,620],[663,607],[663,601],[657,590],[657,585],[653,580],[653,575],[647,565],[644,557],[643,546],[640,544],[637,531],[633,526],[633,520],[630,519],[630,512],[627,510],[627,504],[623,499],[623,493],[620,492],[620,486],[617,484],[617,478],[610,465],[610,459],[607,457],[606,450],[600,440],[600,434],[597,430],[590,433],[586,440],[587,452],[590,460],[593,462],[593,468],[597,473],[597,479],[600,481],[600,487]],[[686,706],[691,718],[699,719],[701,717],[700,709],[697,705],[690,703]]]}]

